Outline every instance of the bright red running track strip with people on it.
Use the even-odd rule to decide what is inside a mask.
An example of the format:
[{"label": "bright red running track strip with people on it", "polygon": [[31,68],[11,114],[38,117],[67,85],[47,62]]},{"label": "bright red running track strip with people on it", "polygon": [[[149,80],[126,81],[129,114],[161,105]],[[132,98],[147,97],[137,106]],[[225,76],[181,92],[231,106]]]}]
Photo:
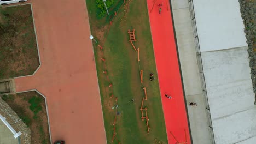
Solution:
[{"label": "bright red running track strip with people on it", "polygon": [[[162,2],[159,14],[158,4]],[[147,4],[168,142],[177,142],[171,131],[178,142],[187,139],[191,143],[170,4],[162,0],[156,0],[155,4],[154,0],[147,0]],[[171,95],[172,99],[166,98],[165,94]]]}]

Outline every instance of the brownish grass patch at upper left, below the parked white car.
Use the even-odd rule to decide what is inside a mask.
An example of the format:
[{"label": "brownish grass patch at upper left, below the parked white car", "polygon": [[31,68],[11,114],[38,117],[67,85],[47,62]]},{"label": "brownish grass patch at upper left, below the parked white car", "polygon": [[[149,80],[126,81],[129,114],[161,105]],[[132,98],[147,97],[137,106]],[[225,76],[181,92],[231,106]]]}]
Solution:
[{"label": "brownish grass patch at upper left, below the parked white car", "polygon": [[33,74],[39,66],[30,4],[0,7],[0,79]]}]

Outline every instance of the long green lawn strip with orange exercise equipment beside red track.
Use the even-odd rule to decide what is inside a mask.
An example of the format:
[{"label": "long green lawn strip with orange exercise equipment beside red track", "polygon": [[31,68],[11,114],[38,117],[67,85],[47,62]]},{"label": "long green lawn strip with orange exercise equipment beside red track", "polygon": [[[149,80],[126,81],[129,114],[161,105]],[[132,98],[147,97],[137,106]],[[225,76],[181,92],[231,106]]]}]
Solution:
[{"label": "long green lawn strip with orange exercise equipment beside red track", "polygon": [[[118,1],[115,1],[118,2]],[[146,0],[126,1],[124,7],[118,11],[109,29],[106,19],[97,17],[97,5],[94,0],[86,0],[89,12],[89,20],[92,35],[98,40],[104,50],[100,51],[94,43],[98,79],[101,92],[104,123],[108,143],[113,136],[113,122],[115,110],[115,98],[110,98],[113,83],[114,97],[118,97],[118,112],[115,140],[113,143],[167,143],[167,135],[162,112],[162,104],[159,91],[158,77],[156,76],[156,65]],[[110,8],[111,9],[111,8]],[[128,29],[135,29],[137,41],[134,43],[140,51],[140,62],[137,61],[137,52],[129,43]],[[110,82],[106,79],[103,62],[106,59],[106,69]],[[144,83],[140,82],[139,70],[144,71]],[[149,74],[154,73],[155,80],[149,80]],[[147,133],[146,121],[141,121],[141,103],[144,97],[142,87],[147,88],[148,100],[144,106],[148,108],[149,127]],[[129,100],[135,99],[133,103]]]}]

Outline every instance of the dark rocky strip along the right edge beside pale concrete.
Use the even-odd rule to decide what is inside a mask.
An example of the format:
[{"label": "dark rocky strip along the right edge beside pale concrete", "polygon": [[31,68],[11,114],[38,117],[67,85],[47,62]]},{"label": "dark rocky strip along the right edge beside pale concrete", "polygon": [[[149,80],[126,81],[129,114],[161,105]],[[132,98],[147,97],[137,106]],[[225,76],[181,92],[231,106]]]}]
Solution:
[{"label": "dark rocky strip along the right edge beside pale concrete", "polygon": [[[248,44],[253,91],[256,94],[256,0],[238,0],[240,3],[241,16],[245,24],[245,33]],[[256,100],[256,96],[255,96]],[[256,101],[254,101],[256,105]]]}]

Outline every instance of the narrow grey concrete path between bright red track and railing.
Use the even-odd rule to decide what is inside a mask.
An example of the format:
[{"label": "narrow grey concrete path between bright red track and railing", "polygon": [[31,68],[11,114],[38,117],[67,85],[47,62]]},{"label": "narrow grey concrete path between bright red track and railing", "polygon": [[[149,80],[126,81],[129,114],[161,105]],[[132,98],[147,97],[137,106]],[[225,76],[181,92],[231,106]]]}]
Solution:
[{"label": "narrow grey concrete path between bright red track and railing", "polygon": [[201,80],[197,66],[188,0],[171,0],[171,4],[185,97],[187,104],[190,101],[198,104],[194,107],[188,105],[192,140],[195,144],[208,144],[211,143],[210,131],[208,130],[205,101],[202,95]]}]

